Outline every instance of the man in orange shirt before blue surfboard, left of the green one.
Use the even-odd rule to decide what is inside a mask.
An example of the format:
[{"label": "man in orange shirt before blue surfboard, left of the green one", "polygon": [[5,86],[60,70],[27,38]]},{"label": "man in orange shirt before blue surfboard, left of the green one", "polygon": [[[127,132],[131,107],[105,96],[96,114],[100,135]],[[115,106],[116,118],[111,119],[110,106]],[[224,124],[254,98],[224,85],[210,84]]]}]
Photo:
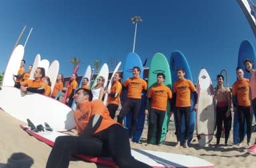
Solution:
[{"label": "man in orange shirt before blue surfboard, left of the green one", "polygon": [[123,89],[127,89],[127,100],[124,102],[123,108],[117,117],[117,122],[123,124],[123,118],[125,118],[126,114],[128,112],[132,113],[130,138],[133,137],[136,129],[139,109],[141,108],[141,93],[143,90],[147,90],[147,82],[139,77],[140,73],[141,69],[138,66],[133,67],[133,77],[128,78],[123,83]]}]

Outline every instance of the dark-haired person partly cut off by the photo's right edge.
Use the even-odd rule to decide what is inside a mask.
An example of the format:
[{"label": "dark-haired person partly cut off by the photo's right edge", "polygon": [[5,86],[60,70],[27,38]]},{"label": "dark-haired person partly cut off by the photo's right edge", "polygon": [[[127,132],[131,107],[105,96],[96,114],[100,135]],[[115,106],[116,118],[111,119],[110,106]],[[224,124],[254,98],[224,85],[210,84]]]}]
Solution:
[{"label": "dark-haired person partly cut off by the photo's right edge", "polygon": [[[248,72],[251,72],[250,87],[251,87],[251,105],[253,108],[255,120],[256,120],[256,70],[254,68],[253,61],[250,59],[244,60],[245,68]],[[250,147],[249,153],[255,153],[256,151],[256,138],[253,146]]]}]

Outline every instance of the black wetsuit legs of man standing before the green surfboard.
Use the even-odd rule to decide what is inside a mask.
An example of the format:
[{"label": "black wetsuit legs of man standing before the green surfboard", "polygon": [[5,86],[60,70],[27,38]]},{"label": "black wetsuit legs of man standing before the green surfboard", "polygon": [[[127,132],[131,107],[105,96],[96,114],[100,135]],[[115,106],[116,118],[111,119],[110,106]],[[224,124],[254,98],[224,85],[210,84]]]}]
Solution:
[{"label": "black wetsuit legs of man standing before the green surfboard", "polygon": [[156,144],[160,143],[163,121],[165,120],[165,111],[151,109],[149,112],[149,131],[147,133],[147,143],[149,143],[153,136],[153,130],[157,125],[157,141]]}]

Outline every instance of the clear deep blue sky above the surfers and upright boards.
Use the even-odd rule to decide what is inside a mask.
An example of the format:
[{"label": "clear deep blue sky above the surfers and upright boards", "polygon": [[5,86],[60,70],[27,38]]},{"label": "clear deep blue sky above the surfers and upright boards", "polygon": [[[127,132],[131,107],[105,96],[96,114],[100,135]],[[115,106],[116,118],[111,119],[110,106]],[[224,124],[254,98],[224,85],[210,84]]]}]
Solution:
[{"label": "clear deep blue sky above the surfers and upright boards", "polygon": [[[222,69],[229,72],[229,85],[235,81],[239,45],[255,37],[243,11],[235,0],[172,1],[1,1],[0,72],[5,70],[13,45],[25,25],[25,60],[33,64],[35,55],[60,62],[59,72],[69,76],[75,56],[84,62],[78,74],[84,74],[94,60],[124,61],[133,47],[131,17],[143,17],[137,27],[135,52],[147,66],[156,52],[169,57],[174,50],[185,54],[193,82],[202,67],[212,79]],[[113,70],[115,67],[110,67]],[[215,82],[213,81],[215,84]]]}]

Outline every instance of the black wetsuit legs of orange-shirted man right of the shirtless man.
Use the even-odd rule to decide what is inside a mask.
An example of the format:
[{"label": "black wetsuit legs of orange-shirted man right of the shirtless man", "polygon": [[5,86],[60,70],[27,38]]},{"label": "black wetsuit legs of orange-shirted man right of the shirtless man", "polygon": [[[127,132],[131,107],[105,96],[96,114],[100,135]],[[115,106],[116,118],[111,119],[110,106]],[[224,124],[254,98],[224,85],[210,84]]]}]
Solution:
[{"label": "black wetsuit legs of orange-shirted man right of the shirtless man", "polygon": [[250,106],[238,106],[237,112],[238,112],[238,118],[239,118],[240,143],[243,141],[244,135],[245,135],[245,120],[247,124],[247,143],[249,143],[251,141],[251,123],[252,123]]}]

